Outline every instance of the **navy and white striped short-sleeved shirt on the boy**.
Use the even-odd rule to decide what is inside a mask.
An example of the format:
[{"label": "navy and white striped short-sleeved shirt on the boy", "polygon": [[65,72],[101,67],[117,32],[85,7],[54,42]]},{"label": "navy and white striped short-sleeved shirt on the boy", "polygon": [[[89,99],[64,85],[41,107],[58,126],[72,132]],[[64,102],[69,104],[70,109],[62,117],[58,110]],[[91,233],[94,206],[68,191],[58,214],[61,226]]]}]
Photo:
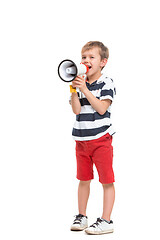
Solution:
[{"label": "navy and white striped short-sleeved shirt on the boy", "polygon": [[[89,84],[87,88],[98,99],[110,99],[113,101],[115,87],[113,80],[102,75],[97,81]],[[76,141],[88,141],[102,137],[106,133],[113,135],[115,132],[111,123],[111,105],[107,111],[100,115],[91,106],[85,95],[77,91],[81,103],[81,112],[76,115],[76,121],[73,126],[72,135]]]}]

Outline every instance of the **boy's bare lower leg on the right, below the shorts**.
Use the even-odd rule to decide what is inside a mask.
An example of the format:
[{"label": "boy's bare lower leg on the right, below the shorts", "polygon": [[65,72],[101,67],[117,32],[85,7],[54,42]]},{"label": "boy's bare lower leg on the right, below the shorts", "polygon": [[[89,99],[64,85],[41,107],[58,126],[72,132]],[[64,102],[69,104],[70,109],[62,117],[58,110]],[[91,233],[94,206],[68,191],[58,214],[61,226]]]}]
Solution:
[{"label": "boy's bare lower leg on the right, below the shorts", "polygon": [[115,201],[115,188],[114,184],[102,184],[103,186],[103,214],[102,218],[110,221],[112,208]]}]

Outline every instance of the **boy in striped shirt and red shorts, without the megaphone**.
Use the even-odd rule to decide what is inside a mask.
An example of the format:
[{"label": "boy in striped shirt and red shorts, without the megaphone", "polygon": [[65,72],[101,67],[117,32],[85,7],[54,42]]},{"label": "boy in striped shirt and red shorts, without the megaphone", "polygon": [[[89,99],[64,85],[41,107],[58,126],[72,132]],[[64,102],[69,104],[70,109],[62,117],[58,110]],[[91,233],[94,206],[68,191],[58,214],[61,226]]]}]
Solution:
[{"label": "boy in striped shirt and red shorts, without the megaphone", "polygon": [[[71,106],[76,114],[72,135],[76,141],[77,179],[80,180],[79,214],[75,216],[71,230],[87,228],[85,232],[88,234],[113,232],[113,221],[110,216],[115,200],[112,168],[114,131],[110,115],[115,88],[113,80],[101,73],[108,57],[108,48],[103,43],[88,42],[82,48],[82,63],[89,67],[87,79],[77,76],[72,81],[71,87]],[[103,213],[101,218],[97,218],[97,221],[88,228],[86,208],[90,182],[93,179],[93,163],[103,186]]]}]

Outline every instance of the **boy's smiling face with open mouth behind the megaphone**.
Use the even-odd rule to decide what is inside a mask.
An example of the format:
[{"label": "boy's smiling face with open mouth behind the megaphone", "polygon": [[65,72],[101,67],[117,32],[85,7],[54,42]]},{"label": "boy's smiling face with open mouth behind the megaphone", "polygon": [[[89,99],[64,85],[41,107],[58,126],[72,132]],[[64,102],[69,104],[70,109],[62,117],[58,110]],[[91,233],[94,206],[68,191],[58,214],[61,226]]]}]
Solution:
[{"label": "boy's smiling face with open mouth behind the megaphone", "polygon": [[93,47],[82,53],[82,63],[89,67],[89,71],[86,75],[87,77],[91,77],[97,73],[101,73],[102,67],[107,63],[107,59],[101,60],[99,48]]}]

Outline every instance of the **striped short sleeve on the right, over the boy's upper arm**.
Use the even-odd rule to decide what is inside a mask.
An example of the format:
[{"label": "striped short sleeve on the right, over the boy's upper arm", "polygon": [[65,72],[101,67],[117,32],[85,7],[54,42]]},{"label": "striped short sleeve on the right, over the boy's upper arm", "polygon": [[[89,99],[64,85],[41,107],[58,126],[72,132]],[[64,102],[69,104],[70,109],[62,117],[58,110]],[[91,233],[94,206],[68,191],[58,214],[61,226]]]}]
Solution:
[{"label": "striped short sleeve on the right, over the boy's upper arm", "polygon": [[110,99],[113,101],[114,96],[116,94],[116,89],[114,86],[114,82],[111,78],[106,78],[104,81],[104,86],[102,87],[100,100]]}]

